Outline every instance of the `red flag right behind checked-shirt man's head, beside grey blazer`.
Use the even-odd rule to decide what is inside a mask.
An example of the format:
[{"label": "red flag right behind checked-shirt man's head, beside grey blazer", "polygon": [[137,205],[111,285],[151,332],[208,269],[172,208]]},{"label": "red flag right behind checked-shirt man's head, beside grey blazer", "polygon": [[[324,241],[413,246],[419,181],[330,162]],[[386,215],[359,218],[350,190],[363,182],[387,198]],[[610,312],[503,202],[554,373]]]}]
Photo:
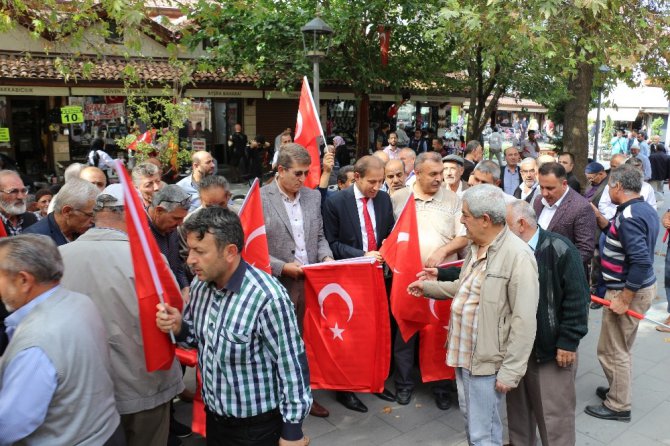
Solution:
[{"label": "red flag right behind checked-shirt man's head, beside grey blazer", "polygon": [[244,203],[242,203],[240,222],[242,222],[242,230],[244,230],[242,258],[250,265],[272,274],[258,178],[254,180]]}]

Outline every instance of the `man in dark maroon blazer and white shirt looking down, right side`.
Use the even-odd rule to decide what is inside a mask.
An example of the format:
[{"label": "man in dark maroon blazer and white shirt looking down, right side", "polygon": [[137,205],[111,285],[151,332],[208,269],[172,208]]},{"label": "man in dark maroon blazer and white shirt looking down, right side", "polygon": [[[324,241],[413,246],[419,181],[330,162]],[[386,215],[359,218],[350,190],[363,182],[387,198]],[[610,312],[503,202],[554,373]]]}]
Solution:
[{"label": "man in dark maroon blazer and white shirt looking down, right side", "polygon": [[584,263],[584,271],[588,271],[596,230],[596,217],[591,205],[568,187],[567,173],[562,165],[546,163],[538,173],[542,197],[533,202],[538,225],[574,243]]}]

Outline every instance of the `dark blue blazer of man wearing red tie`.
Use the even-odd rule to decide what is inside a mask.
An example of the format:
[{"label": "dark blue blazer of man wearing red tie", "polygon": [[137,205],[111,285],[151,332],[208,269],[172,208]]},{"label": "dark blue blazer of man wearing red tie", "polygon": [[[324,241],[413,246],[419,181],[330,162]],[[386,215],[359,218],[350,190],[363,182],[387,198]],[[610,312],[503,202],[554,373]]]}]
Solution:
[{"label": "dark blue blazer of man wearing red tie", "polygon": [[[354,187],[336,192],[326,200],[323,207],[323,231],[336,260],[361,257],[365,254]],[[393,229],[393,205],[389,195],[383,191],[377,193],[372,203],[377,226],[375,235],[378,246],[381,246]]]}]

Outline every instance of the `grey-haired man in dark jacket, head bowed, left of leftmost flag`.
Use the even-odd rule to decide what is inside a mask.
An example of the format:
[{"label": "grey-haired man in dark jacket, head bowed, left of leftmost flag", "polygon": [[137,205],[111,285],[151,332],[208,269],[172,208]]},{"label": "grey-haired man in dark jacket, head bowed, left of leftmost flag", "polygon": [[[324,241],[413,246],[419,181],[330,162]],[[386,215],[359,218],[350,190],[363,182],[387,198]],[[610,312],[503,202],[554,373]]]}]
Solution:
[{"label": "grey-haired man in dark jacket, head bowed, left of leftmost flag", "polygon": [[100,190],[84,180],[71,180],[54,197],[54,211],[24,232],[51,237],[57,246],[69,243],[93,226],[93,206]]}]

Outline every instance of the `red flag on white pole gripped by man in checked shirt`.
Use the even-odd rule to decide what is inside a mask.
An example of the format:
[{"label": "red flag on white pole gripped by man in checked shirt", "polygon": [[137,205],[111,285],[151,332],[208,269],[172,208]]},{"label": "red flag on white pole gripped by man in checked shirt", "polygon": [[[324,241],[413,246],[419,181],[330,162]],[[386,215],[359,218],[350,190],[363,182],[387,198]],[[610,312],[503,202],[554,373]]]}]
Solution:
[{"label": "red flag on white pole gripped by man in checked shirt", "polygon": [[181,311],[181,293],[149,230],[140,195],[133,187],[128,172],[120,161],[116,161],[115,168],[123,187],[126,226],[133,256],[135,290],[144,344],[144,361],[149,372],[168,370],[174,362],[175,346],[170,342],[168,335],[156,326],[156,305],[164,301]]}]

